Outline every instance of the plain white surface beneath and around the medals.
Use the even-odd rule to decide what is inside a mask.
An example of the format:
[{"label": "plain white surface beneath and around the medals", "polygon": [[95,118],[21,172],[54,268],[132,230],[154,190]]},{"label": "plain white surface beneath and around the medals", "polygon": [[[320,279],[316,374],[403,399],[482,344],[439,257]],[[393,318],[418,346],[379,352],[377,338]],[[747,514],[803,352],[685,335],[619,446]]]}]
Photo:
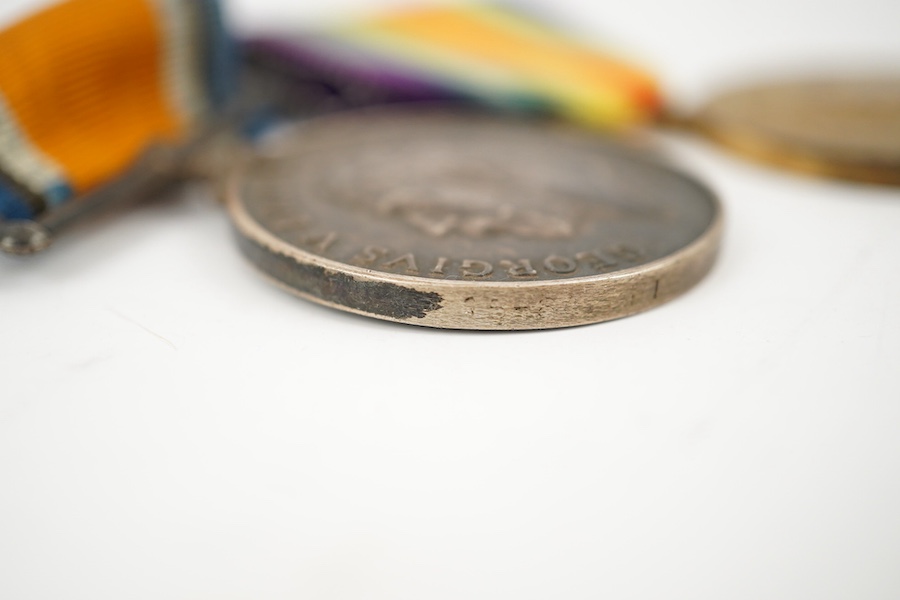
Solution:
[{"label": "plain white surface beneath and around the medals", "polygon": [[[300,4],[232,8],[374,5]],[[546,8],[688,105],[900,64],[889,0]],[[0,257],[0,598],[900,597],[900,190],[660,137],[721,195],[721,258],[601,325],[318,307],[256,276],[200,188]]]}]

